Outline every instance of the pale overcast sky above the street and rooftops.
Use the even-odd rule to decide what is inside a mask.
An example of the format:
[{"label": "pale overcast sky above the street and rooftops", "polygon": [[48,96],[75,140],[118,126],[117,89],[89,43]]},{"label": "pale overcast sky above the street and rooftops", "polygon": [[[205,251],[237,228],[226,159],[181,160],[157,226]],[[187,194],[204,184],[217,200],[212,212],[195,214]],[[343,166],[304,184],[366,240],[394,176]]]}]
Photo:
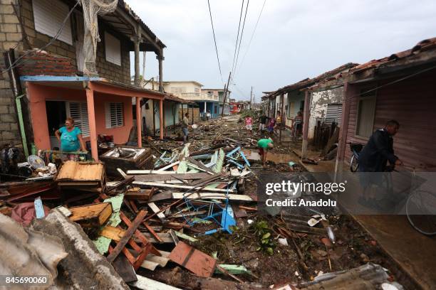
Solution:
[{"label": "pale overcast sky above the street and rooftops", "polygon": [[[210,0],[224,82],[207,0],[125,1],[167,45],[163,80],[224,87],[232,68],[242,0]],[[436,36],[435,0],[266,0],[248,46],[263,4],[264,0],[249,1],[230,87],[237,100],[249,100],[251,86],[259,101],[262,91],[316,77],[344,63],[383,58]],[[148,79],[157,75],[157,60],[154,53],[147,53],[146,60]]]}]

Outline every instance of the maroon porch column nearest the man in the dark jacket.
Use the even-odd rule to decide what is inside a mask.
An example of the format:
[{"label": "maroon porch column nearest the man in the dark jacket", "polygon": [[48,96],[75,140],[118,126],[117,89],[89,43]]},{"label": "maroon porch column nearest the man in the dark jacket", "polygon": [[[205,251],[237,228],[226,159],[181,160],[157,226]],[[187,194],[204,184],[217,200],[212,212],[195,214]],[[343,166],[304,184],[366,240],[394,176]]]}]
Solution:
[{"label": "maroon porch column nearest the man in the dark jacket", "polygon": [[338,178],[338,174],[343,171],[343,159],[346,151],[347,131],[348,131],[348,118],[350,114],[350,103],[353,95],[358,94],[358,90],[355,86],[350,85],[348,82],[343,87],[343,102],[342,102],[342,115],[341,115],[341,127],[339,127],[339,140],[338,140],[338,153],[336,154],[335,165],[335,181]]}]

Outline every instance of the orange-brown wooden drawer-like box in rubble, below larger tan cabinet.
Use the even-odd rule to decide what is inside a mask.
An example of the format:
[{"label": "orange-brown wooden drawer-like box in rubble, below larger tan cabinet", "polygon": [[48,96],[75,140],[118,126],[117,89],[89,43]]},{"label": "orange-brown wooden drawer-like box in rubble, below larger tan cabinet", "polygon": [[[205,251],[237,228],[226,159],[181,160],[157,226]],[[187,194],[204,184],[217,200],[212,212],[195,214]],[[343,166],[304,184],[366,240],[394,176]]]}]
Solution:
[{"label": "orange-brown wooden drawer-like box in rubble, below larger tan cabinet", "polygon": [[104,225],[112,215],[111,203],[96,203],[92,205],[81,205],[69,208],[71,211],[70,220],[78,222],[84,227]]}]

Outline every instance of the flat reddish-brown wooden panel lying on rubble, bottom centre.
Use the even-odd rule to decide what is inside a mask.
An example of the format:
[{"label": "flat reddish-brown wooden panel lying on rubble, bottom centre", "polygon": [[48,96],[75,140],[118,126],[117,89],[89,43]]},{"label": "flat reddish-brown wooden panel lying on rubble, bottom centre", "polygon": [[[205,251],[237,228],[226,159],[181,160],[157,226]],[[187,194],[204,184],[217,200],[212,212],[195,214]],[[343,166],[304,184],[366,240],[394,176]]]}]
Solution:
[{"label": "flat reddish-brown wooden panel lying on rubble, bottom centre", "polygon": [[217,266],[216,259],[198,249],[194,249],[194,247],[185,244],[185,242],[178,242],[168,258],[197,276],[202,277],[212,276]]}]

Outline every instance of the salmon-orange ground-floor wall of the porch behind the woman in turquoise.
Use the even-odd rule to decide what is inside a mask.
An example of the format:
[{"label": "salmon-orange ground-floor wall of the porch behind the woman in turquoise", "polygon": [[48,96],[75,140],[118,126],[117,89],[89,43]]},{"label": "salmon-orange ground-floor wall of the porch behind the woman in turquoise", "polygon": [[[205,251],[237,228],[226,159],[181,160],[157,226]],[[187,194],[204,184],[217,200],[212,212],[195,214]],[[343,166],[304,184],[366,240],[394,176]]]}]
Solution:
[{"label": "salmon-orange ground-floor wall of the porch behind the woman in turquoise", "polygon": [[[31,113],[33,142],[38,149],[50,149],[50,138],[48,136],[48,122],[46,117],[50,112],[46,112],[46,100],[84,102],[86,101],[85,90],[74,90],[65,87],[48,87],[45,85],[35,85],[31,82],[27,82],[26,86]],[[94,92],[94,100],[97,134],[113,135],[116,144],[127,142],[133,124],[131,97],[105,95]],[[105,102],[124,102],[123,127],[106,129]],[[84,139],[85,141],[89,140],[89,138]]]}]

